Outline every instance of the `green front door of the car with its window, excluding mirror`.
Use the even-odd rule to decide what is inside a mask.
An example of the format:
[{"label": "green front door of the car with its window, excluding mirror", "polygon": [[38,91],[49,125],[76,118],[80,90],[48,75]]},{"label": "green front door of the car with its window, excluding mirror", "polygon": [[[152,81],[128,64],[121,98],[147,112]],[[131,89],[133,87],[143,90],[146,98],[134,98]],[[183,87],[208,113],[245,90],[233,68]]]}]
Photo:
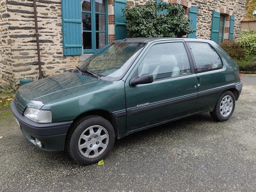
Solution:
[{"label": "green front door of the car with its window, excluding mirror", "polygon": [[[127,132],[186,116],[195,108],[197,79],[183,42],[148,47],[125,82]],[[131,86],[132,76],[152,74],[154,81]]]}]

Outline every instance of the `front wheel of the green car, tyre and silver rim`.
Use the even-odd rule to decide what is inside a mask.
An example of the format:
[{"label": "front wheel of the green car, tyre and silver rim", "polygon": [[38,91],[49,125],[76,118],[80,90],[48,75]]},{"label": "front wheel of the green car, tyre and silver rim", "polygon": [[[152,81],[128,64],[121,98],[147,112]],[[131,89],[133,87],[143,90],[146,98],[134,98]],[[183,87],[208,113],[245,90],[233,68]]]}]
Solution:
[{"label": "front wheel of the green car, tyre and silver rim", "polygon": [[68,134],[67,152],[79,164],[104,159],[115,143],[113,126],[101,116],[86,116],[77,121]]}]

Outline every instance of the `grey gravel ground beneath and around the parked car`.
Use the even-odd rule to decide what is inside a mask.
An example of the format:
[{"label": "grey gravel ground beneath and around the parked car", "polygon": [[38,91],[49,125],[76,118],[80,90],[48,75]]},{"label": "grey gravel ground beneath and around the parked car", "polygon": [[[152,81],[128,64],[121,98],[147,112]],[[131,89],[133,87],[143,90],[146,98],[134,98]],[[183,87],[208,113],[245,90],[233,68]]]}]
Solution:
[{"label": "grey gravel ground beneath and around the parked car", "polygon": [[6,115],[0,191],[256,191],[256,76],[242,81],[227,122],[204,113],[131,134],[116,141],[102,166],[38,150]]}]

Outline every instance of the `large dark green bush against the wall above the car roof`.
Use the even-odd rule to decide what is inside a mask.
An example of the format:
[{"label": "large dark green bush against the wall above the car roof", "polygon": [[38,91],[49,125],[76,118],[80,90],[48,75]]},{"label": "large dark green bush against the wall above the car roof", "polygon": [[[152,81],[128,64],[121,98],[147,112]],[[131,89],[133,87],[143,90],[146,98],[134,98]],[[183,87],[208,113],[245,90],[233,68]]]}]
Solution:
[{"label": "large dark green bush against the wall above the car roof", "polygon": [[143,6],[126,6],[123,12],[128,37],[181,37],[193,32],[180,4],[150,0]]}]

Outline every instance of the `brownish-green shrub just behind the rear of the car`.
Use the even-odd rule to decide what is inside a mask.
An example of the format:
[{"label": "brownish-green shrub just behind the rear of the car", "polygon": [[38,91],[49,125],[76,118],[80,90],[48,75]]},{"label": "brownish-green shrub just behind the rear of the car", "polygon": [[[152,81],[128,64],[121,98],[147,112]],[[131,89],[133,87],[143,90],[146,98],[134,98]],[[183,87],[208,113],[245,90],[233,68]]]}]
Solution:
[{"label": "brownish-green shrub just behind the rear of the car", "polygon": [[242,60],[245,56],[245,51],[241,47],[240,44],[236,42],[236,40],[225,41],[221,45],[222,49],[224,49],[230,57],[234,60]]}]

